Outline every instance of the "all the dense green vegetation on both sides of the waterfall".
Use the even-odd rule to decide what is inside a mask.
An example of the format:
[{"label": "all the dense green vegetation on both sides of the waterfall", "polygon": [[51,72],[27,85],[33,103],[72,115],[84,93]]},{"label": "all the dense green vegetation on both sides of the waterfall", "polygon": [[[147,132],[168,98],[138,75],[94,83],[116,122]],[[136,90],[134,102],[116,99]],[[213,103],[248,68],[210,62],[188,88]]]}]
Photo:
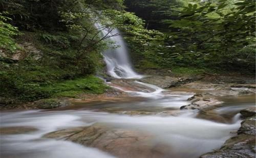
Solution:
[{"label": "all the dense green vegetation on both sides of the waterfall", "polygon": [[100,30],[114,27],[138,70],[255,72],[253,0],[2,0],[0,98],[102,93],[91,75],[104,75],[100,53],[113,43]]}]

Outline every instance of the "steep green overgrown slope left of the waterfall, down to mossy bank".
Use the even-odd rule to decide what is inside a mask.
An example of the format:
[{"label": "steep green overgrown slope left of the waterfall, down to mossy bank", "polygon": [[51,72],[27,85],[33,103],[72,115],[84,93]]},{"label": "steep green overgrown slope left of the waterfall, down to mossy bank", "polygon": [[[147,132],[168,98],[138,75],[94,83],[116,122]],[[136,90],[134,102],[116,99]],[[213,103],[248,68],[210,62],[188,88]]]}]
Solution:
[{"label": "steep green overgrown slope left of the waterfall, down to mossy bank", "polygon": [[[17,35],[18,27],[24,35],[17,42],[25,47],[25,59],[0,61],[0,96],[18,101],[34,101],[49,97],[74,97],[80,93],[103,93],[106,86],[98,78],[88,76],[103,69],[104,39],[95,28],[98,9],[122,8],[120,0],[98,5],[96,1],[1,1],[0,29],[9,29],[7,40]],[[105,1],[97,1],[104,4]],[[95,10],[92,11],[92,10]],[[7,12],[8,11],[8,14]],[[8,17],[6,17],[8,16]],[[3,21],[3,22],[2,22]],[[25,30],[25,31],[24,31]],[[11,32],[12,31],[12,32]],[[6,42],[6,41],[0,41]],[[1,46],[2,47],[2,46]],[[9,46],[8,46],[9,47]],[[35,47],[35,48],[34,48]],[[40,58],[33,57],[33,49]],[[15,53],[15,52],[14,52]],[[87,77],[84,77],[87,76]]]}]

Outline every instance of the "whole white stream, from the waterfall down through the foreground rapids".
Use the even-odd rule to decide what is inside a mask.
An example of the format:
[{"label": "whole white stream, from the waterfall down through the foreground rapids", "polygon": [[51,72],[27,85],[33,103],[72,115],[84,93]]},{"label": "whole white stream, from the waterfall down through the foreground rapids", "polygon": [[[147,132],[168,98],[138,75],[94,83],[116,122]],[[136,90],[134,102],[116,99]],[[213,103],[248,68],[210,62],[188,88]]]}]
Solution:
[{"label": "whole white stream, from the waterfall down through the foreground rapids", "polygon": [[[104,31],[103,34],[106,33]],[[119,32],[114,30],[113,33]],[[122,37],[111,37],[111,40],[121,47],[103,53],[109,74],[115,78],[143,77],[133,71]],[[199,157],[203,153],[220,148],[225,140],[233,136],[232,131],[236,131],[241,123],[239,110],[254,106],[253,101],[237,102],[236,98],[233,98],[226,101],[222,107],[214,109],[217,115],[225,115],[229,123],[199,119],[199,111],[185,110],[177,115],[168,115],[164,111],[180,111],[181,106],[190,103],[187,99],[193,94],[174,95],[155,85],[136,83],[154,91],[125,91],[125,87],[117,87],[131,97],[125,101],[76,103],[73,107],[56,110],[1,112],[1,127],[17,131],[1,134],[1,157],[116,157],[107,149],[103,151],[97,146],[89,147],[63,138],[45,137],[46,134],[57,130],[96,124],[116,131],[121,129],[124,133],[129,131],[127,133],[130,133],[130,137],[133,137],[131,132],[140,133],[138,138],[143,139],[132,143],[133,147],[141,149],[140,156],[133,157],[151,157],[148,152],[143,153],[145,148],[160,148],[161,156],[155,157]],[[141,113],[131,115],[127,111]],[[28,131],[22,132],[23,129]],[[121,145],[114,144],[114,148],[119,150],[118,147],[125,143],[129,144],[123,141]],[[127,151],[128,148],[129,145]],[[123,155],[118,157],[129,157],[127,155],[132,154],[125,152],[125,148],[120,152]]]}]

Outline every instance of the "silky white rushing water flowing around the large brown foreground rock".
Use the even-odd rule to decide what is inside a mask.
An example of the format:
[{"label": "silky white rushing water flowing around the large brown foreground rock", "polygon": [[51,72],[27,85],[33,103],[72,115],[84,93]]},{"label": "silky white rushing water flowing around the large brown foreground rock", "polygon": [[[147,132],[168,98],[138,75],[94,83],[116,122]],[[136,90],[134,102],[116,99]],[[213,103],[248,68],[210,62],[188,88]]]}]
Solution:
[{"label": "silky white rushing water flowing around the large brown foreground rock", "polygon": [[[240,126],[193,117],[128,116],[88,110],[4,112],[1,127],[35,127],[26,134],[2,135],[1,156],[10,157],[112,157],[95,148],[62,140],[42,139],[48,132],[103,123],[112,128],[138,130],[150,134],[153,145],[170,146],[173,156],[197,157],[217,149]],[[184,152],[181,152],[184,150]],[[15,156],[18,155],[18,156]]]}]

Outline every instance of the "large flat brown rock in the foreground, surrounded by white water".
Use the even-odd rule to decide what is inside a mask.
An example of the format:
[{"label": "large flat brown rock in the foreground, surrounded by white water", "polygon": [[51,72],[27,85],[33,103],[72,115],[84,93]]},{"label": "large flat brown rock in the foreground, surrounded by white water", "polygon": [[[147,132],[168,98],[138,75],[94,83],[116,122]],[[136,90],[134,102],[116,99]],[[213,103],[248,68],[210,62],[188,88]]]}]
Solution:
[{"label": "large flat brown rock in the foreground, surrounded by white water", "polygon": [[117,157],[164,157],[170,149],[164,144],[151,145],[152,136],[149,134],[102,124],[51,132],[44,137],[95,147]]}]

